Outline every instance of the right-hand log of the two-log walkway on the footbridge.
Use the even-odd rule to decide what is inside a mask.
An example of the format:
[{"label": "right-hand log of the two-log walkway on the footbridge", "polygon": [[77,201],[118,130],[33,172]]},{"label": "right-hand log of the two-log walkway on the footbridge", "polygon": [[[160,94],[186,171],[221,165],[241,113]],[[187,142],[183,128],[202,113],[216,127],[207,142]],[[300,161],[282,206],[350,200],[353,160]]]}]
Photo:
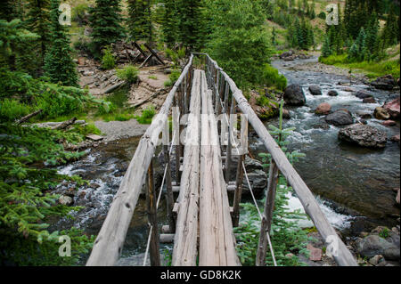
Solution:
[{"label": "right-hand log of the two-log walkway on the footbridge", "polygon": [[235,251],[217,122],[202,72],[200,266],[241,265]]}]

